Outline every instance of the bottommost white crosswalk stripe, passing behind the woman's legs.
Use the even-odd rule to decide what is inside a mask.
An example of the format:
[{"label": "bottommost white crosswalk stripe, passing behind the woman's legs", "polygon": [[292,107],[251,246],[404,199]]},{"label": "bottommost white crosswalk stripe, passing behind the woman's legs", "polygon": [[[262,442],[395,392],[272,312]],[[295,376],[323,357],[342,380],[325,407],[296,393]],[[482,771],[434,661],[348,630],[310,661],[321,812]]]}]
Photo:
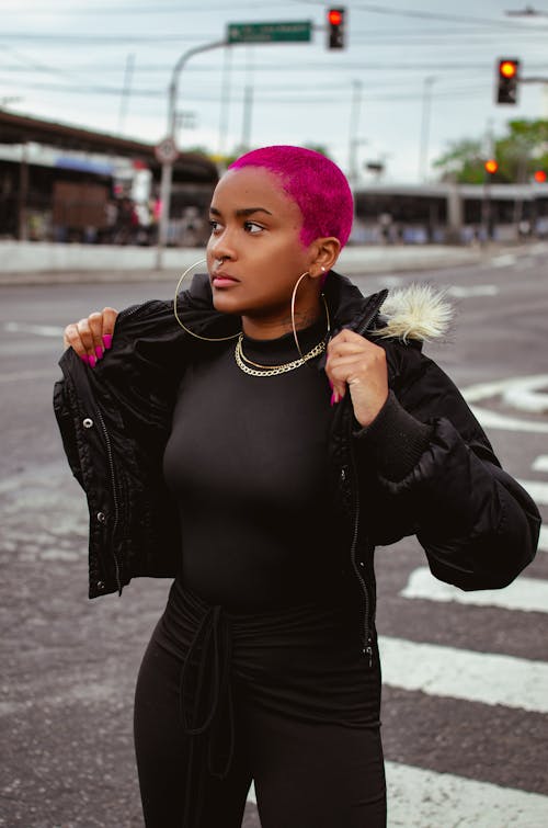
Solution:
[{"label": "bottommost white crosswalk stripe, passing behind the woman's legs", "polygon": [[[548,796],[478,782],[453,773],[385,762],[387,828],[546,828]],[[256,805],[254,784],[248,802]]]}]

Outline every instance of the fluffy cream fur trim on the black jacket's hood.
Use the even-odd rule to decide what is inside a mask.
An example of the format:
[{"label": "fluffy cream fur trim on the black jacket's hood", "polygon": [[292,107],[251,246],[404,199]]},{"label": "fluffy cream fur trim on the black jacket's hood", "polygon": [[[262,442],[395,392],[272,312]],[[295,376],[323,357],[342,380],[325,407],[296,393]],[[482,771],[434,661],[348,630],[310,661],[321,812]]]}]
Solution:
[{"label": "fluffy cream fur trim on the black jacket's hood", "polygon": [[412,284],[390,291],[381,308],[377,337],[429,342],[443,337],[453,319],[446,291],[429,284]]}]

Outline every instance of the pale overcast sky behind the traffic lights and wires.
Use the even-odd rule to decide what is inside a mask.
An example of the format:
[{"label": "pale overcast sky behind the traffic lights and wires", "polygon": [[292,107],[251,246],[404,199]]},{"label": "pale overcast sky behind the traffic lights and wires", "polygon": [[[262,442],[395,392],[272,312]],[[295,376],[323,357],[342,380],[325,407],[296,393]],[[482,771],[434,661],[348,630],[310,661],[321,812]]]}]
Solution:
[{"label": "pale overcast sky behind the traffic lights and wires", "polygon": [[535,16],[506,13],[524,0],[343,4],[347,46],[328,50],[323,2],[0,0],[0,105],[156,143],[181,55],[222,39],[228,23],[309,20],[310,43],[238,45],[189,60],[181,149],[315,143],[350,172],[352,145],[364,180],[364,165],[380,160],[386,181],[413,182],[435,177],[430,162],[453,139],[548,117],[547,84],[523,84],[516,106],[494,104],[500,57],[548,79],[547,0],[533,3]]}]

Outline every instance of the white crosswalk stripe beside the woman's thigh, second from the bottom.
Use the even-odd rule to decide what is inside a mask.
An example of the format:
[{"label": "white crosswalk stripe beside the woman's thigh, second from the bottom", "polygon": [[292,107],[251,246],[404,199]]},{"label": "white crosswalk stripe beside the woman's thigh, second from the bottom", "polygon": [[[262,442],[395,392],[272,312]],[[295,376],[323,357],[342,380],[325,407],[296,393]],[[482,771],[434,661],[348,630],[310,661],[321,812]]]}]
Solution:
[{"label": "white crosswalk stripe beside the woman's thigh, second from the bottom", "polygon": [[379,636],[383,682],[401,690],[548,713],[548,663]]}]

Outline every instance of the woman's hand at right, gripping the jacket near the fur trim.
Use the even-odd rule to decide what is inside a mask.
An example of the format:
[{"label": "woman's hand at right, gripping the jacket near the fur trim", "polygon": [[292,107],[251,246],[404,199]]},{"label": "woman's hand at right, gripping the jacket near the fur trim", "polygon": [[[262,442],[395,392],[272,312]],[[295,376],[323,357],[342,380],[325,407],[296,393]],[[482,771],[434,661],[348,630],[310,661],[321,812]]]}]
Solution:
[{"label": "woman's hand at right, gripping the jacket near the fur trim", "polygon": [[376,418],[388,397],[388,370],[383,348],[352,330],[342,330],[328,345],[326,374],[333,402],[350,390],[354,417],[364,428]]}]

